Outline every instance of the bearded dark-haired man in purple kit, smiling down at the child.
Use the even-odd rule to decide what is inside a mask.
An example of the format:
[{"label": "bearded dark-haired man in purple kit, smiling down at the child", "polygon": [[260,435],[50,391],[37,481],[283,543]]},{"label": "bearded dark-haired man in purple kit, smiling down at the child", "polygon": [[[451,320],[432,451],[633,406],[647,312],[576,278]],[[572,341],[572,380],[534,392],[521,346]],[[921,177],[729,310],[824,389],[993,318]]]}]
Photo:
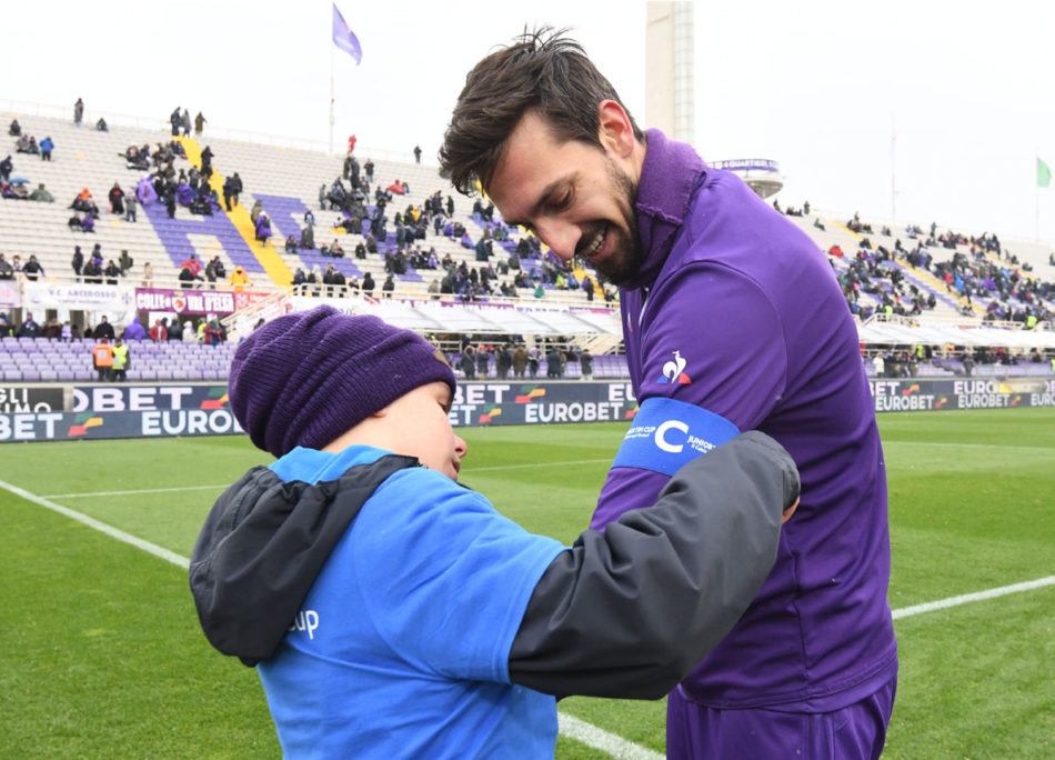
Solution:
[{"label": "bearded dark-haired man in purple kit, smiling down at the child", "polygon": [[669,697],[669,756],[878,757],[897,676],[885,466],[856,331],[817,247],[690,146],[642,132],[549,30],[470,72],[441,162],[463,192],[479,180],[506,222],[620,286],[641,406],[594,527],[742,430],[800,468],[767,580]]}]

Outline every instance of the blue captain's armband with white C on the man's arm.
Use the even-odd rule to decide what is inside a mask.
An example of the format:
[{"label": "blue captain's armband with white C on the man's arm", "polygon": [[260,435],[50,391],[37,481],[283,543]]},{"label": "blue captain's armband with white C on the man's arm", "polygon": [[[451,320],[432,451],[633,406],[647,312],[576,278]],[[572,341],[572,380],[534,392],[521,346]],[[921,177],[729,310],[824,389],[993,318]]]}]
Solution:
[{"label": "blue captain's armband with white C on the man's arm", "polygon": [[740,434],[714,412],[664,397],[645,399],[620,444],[612,467],[673,476],[681,467]]}]

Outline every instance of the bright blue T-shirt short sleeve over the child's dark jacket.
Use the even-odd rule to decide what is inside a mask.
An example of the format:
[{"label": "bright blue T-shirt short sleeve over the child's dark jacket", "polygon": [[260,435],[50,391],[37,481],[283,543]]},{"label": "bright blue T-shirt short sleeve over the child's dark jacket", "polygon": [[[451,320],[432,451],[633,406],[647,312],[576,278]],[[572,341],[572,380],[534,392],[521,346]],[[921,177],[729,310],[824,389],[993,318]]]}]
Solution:
[{"label": "bright blue T-shirt short sleeve over the child's dark jacket", "polygon": [[528,601],[565,547],[424,469],[389,478],[355,533],[369,613],[395,651],[424,672],[509,683],[509,652]]}]

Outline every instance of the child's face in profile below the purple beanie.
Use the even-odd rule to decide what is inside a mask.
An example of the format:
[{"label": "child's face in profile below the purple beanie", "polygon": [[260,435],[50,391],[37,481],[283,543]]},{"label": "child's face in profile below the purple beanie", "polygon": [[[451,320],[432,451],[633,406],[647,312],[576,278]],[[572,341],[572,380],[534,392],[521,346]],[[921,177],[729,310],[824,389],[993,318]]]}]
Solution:
[{"label": "child's face in profile below the purple beanie", "polygon": [[400,431],[396,453],[418,457],[430,470],[458,480],[462,457],[469,447],[454,434],[448,419],[450,386],[442,381],[419,386],[392,402],[386,411]]}]

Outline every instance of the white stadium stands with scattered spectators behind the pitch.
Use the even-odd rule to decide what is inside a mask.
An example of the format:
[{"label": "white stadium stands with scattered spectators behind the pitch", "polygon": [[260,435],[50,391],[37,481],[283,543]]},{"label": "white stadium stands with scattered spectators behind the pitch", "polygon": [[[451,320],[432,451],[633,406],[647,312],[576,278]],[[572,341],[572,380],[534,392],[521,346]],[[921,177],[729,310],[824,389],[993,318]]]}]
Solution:
[{"label": "white stadium stands with scattered spectators behind the pitch", "polygon": [[[212,138],[208,131],[204,138],[174,139],[160,120],[157,128],[112,124],[109,131],[97,131],[77,129],[69,119],[0,113],[4,123],[12,118],[19,119],[23,134],[38,141],[50,137],[54,151],[50,162],[16,153],[11,138],[11,179],[23,180],[16,184],[27,188],[46,186],[54,202],[0,201],[0,251],[8,261],[18,256],[23,268],[36,257],[42,268],[38,278],[47,282],[83,281],[71,267],[73,247],[80,246],[90,257],[98,243],[103,264],[119,261],[122,253],[133,261],[123,274],[111,271],[104,278],[119,287],[234,288],[257,293],[248,308],[224,320],[229,337],[235,340],[282,308],[307,308],[329,297],[344,310],[376,313],[433,336],[453,356],[455,367],[459,337],[470,333],[478,344],[492,347],[522,339],[542,347],[556,344],[572,357],[566,378],[579,377],[574,357],[583,349],[595,357],[594,377],[626,376],[612,291],[593,281],[584,289],[585,271],[563,264],[522,230],[505,228],[493,207],[474,206],[454,193],[431,166],[393,160],[380,151],[372,157],[360,147],[355,153],[360,176],[365,174],[368,159],[374,166],[373,182],[356,199],[344,156]],[[162,202],[139,206],[135,221],[111,212],[108,193],[114,183],[131,192],[141,182],[151,183],[150,174],[164,168],[164,162],[151,164],[149,172],[129,168],[132,162],[125,153],[132,146],[145,146],[154,154],[170,149],[182,153],[172,159],[177,178],[190,174],[192,168],[201,170],[208,151],[213,173],[200,187],[212,192],[213,213],[191,213],[187,206],[175,203],[170,216]],[[228,212],[224,180],[235,172],[241,197]],[[341,187],[334,194],[338,179]],[[84,188],[99,209],[91,233],[68,224],[73,214],[70,206]],[[383,213],[376,214],[378,193],[385,188],[392,192]],[[778,203],[774,207],[781,210]],[[436,209],[442,210],[435,214],[439,224],[433,223]],[[253,221],[258,211],[270,220],[271,236],[264,240]],[[870,372],[875,372],[871,359],[880,356],[886,360],[888,369],[883,373],[887,376],[902,371],[920,377],[999,374],[1008,368],[1026,374],[1051,373],[1055,266],[1043,247],[1019,241],[1001,244],[995,236],[972,238],[933,224],[927,230],[910,226],[891,232],[857,214],[811,211],[808,204],[786,211],[814,240],[818,253],[827,256],[842,283],[847,306],[858,320]],[[402,251],[396,212],[408,221]],[[380,216],[385,223],[372,222],[371,216]],[[310,217],[314,240],[313,248],[305,248],[300,242]],[[372,243],[370,233],[375,233]],[[323,251],[333,243],[343,249],[343,256]],[[356,251],[360,246],[370,250]],[[188,280],[187,272],[181,279],[182,264],[191,254],[197,257],[195,267],[219,260],[228,276],[241,268],[248,282],[235,287],[223,276],[215,282]],[[16,282],[24,277],[18,274]],[[362,287],[370,281],[372,288]],[[145,324],[157,316],[139,319]],[[87,321],[88,316],[78,314],[74,320],[78,317]],[[12,340],[0,344],[4,381],[93,377],[92,341]],[[41,340],[43,346],[38,344]],[[143,340],[130,346],[130,381],[219,380],[230,361],[229,343],[214,348],[195,341]],[[916,357],[917,347],[923,346],[930,357]],[[493,356],[488,368],[488,377],[495,377]],[[542,377],[544,371],[543,367]]]}]

